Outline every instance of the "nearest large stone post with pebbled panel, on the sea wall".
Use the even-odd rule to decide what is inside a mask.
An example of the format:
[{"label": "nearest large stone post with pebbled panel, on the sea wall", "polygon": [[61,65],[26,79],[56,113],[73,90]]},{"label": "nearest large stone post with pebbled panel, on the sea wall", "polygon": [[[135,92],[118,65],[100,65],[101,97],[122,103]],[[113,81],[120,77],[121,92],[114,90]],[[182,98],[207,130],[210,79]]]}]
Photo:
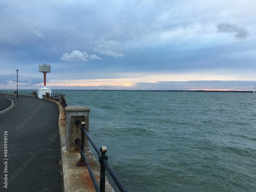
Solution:
[{"label": "nearest large stone post with pebbled panel, on the sea wall", "polygon": [[[66,150],[67,151],[80,151],[75,143],[76,138],[81,140],[81,129],[76,125],[76,120],[85,122],[87,133],[89,133],[89,111],[88,107],[71,106],[65,107],[66,111]],[[89,150],[89,140],[84,136],[84,150]]]}]

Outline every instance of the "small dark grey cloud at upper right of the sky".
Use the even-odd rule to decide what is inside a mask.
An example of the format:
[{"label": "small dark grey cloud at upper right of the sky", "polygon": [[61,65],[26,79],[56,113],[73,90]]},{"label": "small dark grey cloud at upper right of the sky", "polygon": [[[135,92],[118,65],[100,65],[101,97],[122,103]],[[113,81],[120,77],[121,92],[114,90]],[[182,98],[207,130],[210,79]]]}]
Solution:
[{"label": "small dark grey cloud at upper right of the sky", "polygon": [[236,33],[236,38],[246,39],[250,34],[245,27],[238,27],[234,23],[224,22],[217,24],[217,33]]}]

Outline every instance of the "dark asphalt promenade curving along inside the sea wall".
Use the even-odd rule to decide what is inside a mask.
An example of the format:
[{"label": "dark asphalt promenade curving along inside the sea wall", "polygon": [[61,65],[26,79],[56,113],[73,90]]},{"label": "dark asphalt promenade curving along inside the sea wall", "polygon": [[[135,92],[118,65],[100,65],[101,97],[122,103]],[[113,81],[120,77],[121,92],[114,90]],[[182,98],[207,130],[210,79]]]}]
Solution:
[{"label": "dark asphalt promenade curving along inside the sea wall", "polygon": [[57,105],[7,97],[17,106],[0,114],[0,191],[62,191]]}]

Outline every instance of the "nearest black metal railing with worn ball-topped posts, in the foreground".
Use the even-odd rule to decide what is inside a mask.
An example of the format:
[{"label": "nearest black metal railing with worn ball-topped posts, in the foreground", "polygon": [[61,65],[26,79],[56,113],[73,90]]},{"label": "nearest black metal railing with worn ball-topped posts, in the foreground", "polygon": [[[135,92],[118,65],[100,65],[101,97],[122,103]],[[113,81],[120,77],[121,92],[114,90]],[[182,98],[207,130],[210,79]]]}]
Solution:
[{"label": "nearest black metal railing with worn ball-topped posts, in the foreground", "polygon": [[[80,144],[80,139],[77,138],[75,140],[75,143],[78,145],[79,149],[80,149],[80,160],[79,162],[77,162],[78,166],[87,166],[87,169],[89,171],[89,174],[92,178],[92,182],[94,184],[94,187],[96,189],[97,192],[104,192],[105,191],[105,168],[107,168],[110,176],[113,178],[114,182],[116,183],[117,187],[119,188],[120,191],[128,191],[125,186],[122,184],[121,180],[119,179],[119,177],[116,175],[116,173],[114,172],[114,170],[112,169],[112,167],[110,166],[109,162],[108,162],[108,156],[105,155],[105,153],[107,152],[107,148],[105,146],[102,146],[100,149],[97,147],[97,145],[94,143],[94,141],[92,140],[92,138],[90,137],[90,135],[87,133],[86,129],[85,129],[85,122],[80,122],[80,120],[76,120],[76,124],[80,126],[81,128],[81,144]],[[84,134],[86,135],[86,137],[88,138],[88,140],[90,141],[90,143],[92,144],[94,150],[96,151],[96,153],[99,155],[99,163],[100,163],[100,187],[95,179],[95,176],[92,173],[91,167],[88,163],[88,160],[85,156],[84,153]]]}]

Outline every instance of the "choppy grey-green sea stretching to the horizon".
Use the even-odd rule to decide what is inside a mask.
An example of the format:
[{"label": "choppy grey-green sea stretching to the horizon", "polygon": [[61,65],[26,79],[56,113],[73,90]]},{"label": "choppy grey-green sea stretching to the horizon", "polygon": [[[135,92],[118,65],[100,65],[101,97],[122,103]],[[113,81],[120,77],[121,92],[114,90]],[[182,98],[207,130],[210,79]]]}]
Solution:
[{"label": "choppy grey-green sea stretching to the horizon", "polygon": [[256,94],[52,92],[91,109],[89,134],[128,191],[256,191]]}]

